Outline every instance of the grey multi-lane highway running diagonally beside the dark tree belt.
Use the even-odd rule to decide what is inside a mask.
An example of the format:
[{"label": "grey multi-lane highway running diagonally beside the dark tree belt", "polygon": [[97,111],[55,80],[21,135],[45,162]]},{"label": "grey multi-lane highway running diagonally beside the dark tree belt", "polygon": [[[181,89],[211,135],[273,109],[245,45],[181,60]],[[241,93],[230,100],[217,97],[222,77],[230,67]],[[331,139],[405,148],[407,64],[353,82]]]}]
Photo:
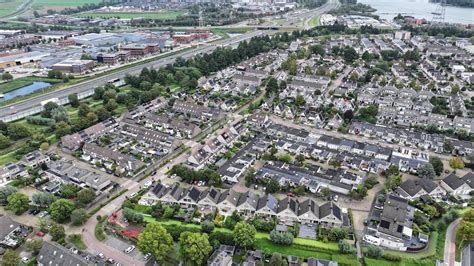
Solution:
[{"label": "grey multi-lane highway running diagonally beside the dark tree belt", "polygon": [[[325,12],[328,12],[329,10],[335,8],[339,2],[337,0],[329,0],[329,2],[317,9],[313,9],[307,12],[303,12],[300,14],[297,14],[292,19],[289,19],[288,21],[285,21],[282,26],[290,26],[293,25],[294,23],[298,22],[299,20],[306,20],[308,18],[314,17],[321,15]],[[206,44],[205,46],[198,47],[192,50],[188,50],[182,53],[170,55],[165,58],[157,59],[156,61],[148,62],[148,63],[143,63],[135,66],[131,66],[126,69],[121,69],[118,70],[114,73],[111,73],[109,75],[104,75],[98,78],[93,78],[90,80],[87,80],[85,82],[72,85],[68,88],[57,90],[57,91],[52,91],[48,92],[30,99],[26,99],[24,101],[1,107],[0,108],[0,120],[3,120],[4,122],[10,122],[14,120],[18,120],[21,118],[24,118],[29,115],[34,115],[42,110],[42,105],[41,103],[47,102],[48,100],[52,99],[59,99],[59,104],[66,104],[67,103],[67,96],[69,94],[77,93],[80,98],[86,97],[92,94],[92,91],[94,88],[103,86],[104,84],[107,83],[109,80],[114,80],[118,78],[123,78],[125,74],[138,74],[144,67],[148,68],[159,68],[161,66],[165,66],[167,64],[172,64],[174,60],[177,57],[183,57],[185,59],[191,58],[194,55],[198,53],[211,53],[214,51],[217,47],[219,46],[229,46],[229,45],[235,45],[238,44],[242,41],[251,39],[252,37],[259,36],[262,34],[270,34],[273,33],[272,31],[252,31],[249,33],[245,33],[239,36],[235,36],[229,39],[225,39],[219,42],[215,42],[214,44]]]}]

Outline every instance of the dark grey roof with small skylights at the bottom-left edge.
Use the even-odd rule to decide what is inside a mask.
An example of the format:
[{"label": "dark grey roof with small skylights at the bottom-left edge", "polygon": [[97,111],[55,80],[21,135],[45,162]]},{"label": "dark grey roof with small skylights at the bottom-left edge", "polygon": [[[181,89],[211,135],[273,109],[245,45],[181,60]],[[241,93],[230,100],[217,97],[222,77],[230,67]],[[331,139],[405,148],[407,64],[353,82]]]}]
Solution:
[{"label": "dark grey roof with small skylights at the bottom-left edge", "polygon": [[92,265],[81,256],[71,253],[67,248],[52,242],[44,242],[38,256],[38,264],[50,266]]}]

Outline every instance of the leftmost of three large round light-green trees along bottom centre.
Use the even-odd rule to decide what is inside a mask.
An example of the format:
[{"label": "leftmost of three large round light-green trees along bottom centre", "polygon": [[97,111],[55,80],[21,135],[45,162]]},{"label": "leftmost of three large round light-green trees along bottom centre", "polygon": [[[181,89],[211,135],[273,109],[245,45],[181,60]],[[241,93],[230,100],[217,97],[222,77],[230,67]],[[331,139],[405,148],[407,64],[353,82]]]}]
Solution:
[{"label": "leftmost of three large round light-green trees along bottom centre", "polygon": [[173,238],[159,223],[149,223],[138,236],[138,248],[151,253],[157,262],[163,262],[173,250]]}]

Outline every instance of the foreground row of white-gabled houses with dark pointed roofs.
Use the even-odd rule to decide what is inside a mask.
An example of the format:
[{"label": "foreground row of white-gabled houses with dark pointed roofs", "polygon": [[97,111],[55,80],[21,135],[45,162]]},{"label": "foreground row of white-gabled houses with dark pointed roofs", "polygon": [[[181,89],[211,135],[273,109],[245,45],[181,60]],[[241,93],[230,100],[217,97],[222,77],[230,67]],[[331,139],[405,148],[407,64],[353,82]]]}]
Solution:
[{"label": "foreground row of white-gabled houses with dark pointed roofs", "polygon": [[179,184],[167,187],[161,183],[139,200],[139,204],[146,206],[158,202],[185,208],[218,210],[224,216],[237,212],[248,218],[276,217],[285,224],[320,224],[324,227],[342,226],[345,219],[343,213],[346,212],[334,202],[318,205],[312,199],[300,201],[298,198],[285,197],[278,200],[271,194],[260,197],[251,191],[238,193],[233,189],[220,190],[214,187],[200,190],[194,186],[186,189]]}]

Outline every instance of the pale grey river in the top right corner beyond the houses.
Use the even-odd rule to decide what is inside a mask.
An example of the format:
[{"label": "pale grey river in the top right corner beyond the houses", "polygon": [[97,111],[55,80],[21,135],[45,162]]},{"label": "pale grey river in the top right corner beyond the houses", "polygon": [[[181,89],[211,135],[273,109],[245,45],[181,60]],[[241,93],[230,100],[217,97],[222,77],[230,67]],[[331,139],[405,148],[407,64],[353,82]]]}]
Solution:
[{"label": "pale grey river in the top right corner beyond the houses", "polygon": [[[377,9],[376,15],[392,20],[398,13],[431,21],[437,5],[429,0],[358,0]],[[445,22],[474,24],[474,8],[446,6]]]}]

